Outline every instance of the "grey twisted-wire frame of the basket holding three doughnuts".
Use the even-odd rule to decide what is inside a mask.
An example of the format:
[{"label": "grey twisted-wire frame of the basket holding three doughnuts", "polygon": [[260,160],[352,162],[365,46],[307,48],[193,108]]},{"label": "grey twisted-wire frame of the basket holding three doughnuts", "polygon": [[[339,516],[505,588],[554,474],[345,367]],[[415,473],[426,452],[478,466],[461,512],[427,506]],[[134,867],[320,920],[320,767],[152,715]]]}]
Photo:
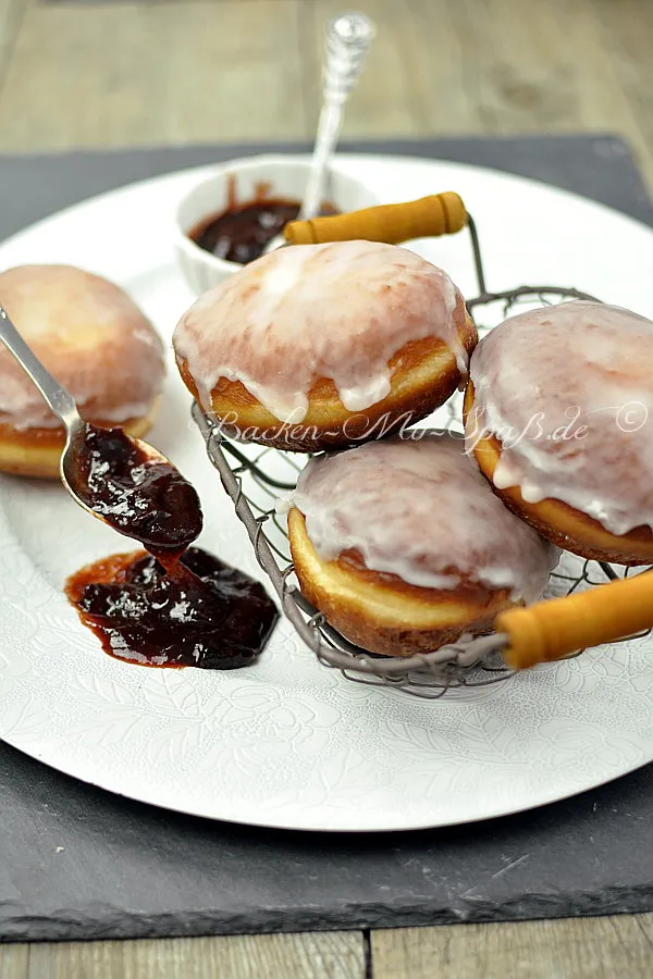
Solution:
[{"label": "grey twisted-wire frame of the basket holding three doughnuts", "polygon": [[[527,307],[556,305],[565,299],[595,299],[576,288],[553,285],[525,285],[500,293],[490,292],[485,284],[479,235],[471,216],[468,218],[467,230],[478,284],[478,294],[467,299],[467,308],[481,336],[506,315]],[[320,664],[340,670],[347,680],[384,685],[426,699],[440,698],[460,687],[500,683],[512,676],[513,671],[501,656],[507,640],[498,633],[477,637],[463,635],[456,643],[408,657],[375,656],[346,640],[301,594],[294,574],[285,519],[278,512],[279,500],[295,488],[304,460],[308,457],[236,443],[225,435],[220,422],[205,413],[197,402],[193,405],[193,419],[205,441],[209,460],[220,475],[236,516],[245,525],[257,560],[269,577],[283,612]],[[461,434],[461,395],[454,395],[427,422],[418,425]],[[298,462],[298,459],[301,461]],[[560,597],[600,586],[626,577],[628,571],[565,552],[550,578],[544,597]]]}]

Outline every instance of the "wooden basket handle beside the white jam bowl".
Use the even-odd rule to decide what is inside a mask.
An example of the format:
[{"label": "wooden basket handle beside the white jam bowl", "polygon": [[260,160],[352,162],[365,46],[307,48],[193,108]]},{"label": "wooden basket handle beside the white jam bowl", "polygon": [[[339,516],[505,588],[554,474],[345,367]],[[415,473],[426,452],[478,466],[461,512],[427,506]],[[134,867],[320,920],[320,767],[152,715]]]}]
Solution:
[{"label": "wooden basket handle beside the white jam bowl", "polygon": [[453,235],[465,227],[467,220],[460,197],[446,190],[405,203],[379,205],[312,221],[291,221],[283,234],[288,245],[356,239],[398,245],[411,238]]}]

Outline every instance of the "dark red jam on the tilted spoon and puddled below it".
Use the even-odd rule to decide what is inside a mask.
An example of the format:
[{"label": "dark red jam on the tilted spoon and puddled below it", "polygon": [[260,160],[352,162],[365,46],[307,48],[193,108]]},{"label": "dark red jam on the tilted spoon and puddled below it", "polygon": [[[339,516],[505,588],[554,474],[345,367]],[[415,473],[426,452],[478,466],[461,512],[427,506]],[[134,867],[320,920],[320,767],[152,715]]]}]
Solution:
[{"label": "dark red jam on the tilted spoon and puddled below it", "polygon": [[148,553],[114,555],[66,594],[106,653],[146,666],[234,669],[257,658],[278,612],[261,584],[189,545],[202,528],[193,486],[122,430],[86,425],[73,488]]}]

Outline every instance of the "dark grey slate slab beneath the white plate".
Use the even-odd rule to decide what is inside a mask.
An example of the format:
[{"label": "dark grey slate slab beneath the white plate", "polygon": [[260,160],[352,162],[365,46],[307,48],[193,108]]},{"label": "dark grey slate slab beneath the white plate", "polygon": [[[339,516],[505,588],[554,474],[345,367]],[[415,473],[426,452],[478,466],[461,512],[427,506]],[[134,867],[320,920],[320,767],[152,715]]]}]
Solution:
[{"label": "dark grey slate slab beneath the white plate", "polygon": [[[496,166],[653,223],[627,148],[608,136],[356,148]],[[261,149],[0,158],[0,237],[108,187]],[[364,837],[177,816],[84,785],[0,744],[0,940],[651,910],[652,826],[653,766],[533,813]]]}]

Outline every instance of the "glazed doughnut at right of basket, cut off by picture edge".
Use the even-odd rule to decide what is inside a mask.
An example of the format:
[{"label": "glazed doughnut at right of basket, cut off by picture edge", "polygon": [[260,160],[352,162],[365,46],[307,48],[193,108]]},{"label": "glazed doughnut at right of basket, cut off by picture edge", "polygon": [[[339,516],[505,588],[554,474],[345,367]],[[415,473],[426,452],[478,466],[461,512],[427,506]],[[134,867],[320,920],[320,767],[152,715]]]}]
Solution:
[{"label": "glazed doughnut at right of basket, cut off by picture edge", "polygon": [[575,301],[477,347],[466,431],[504,503],[559,547],[653,562],[653,322]]}]

